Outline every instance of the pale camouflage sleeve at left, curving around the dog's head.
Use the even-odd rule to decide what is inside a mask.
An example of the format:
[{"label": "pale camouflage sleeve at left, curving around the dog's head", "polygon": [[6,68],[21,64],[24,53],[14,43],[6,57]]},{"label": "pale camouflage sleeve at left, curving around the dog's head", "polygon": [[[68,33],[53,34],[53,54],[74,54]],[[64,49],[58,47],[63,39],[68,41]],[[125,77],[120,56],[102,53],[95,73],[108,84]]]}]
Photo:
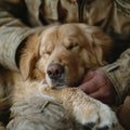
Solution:
[{"label": "pale camouflage sleeve at left, curving around the dog's head", "polygon": [[23,24],[0,2],[0,65],[17,70],[15,61],[17,47],[27,36],[40,29],[41,27],[30,28]]}]

